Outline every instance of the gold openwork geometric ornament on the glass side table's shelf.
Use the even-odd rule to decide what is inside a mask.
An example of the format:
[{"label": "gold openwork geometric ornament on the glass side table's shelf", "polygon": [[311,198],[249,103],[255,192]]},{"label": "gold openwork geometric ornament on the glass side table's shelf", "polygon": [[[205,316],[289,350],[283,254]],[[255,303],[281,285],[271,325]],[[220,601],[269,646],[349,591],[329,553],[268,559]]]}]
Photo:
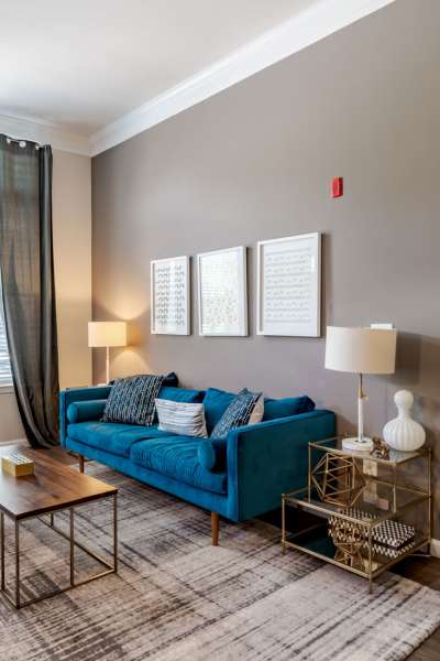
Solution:
[{"label": "gold openwork geometric ornament on the glass side table's shelf", "polygon": [[365,486],[365,479],[353,457],[327,452],[310,478],[323,502],[351,507]]}]

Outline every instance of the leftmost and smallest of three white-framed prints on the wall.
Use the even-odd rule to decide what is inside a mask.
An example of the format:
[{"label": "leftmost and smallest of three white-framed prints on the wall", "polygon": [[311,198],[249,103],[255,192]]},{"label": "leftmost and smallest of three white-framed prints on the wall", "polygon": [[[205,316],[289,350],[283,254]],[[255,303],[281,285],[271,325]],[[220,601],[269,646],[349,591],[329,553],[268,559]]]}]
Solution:
[{"label": "leftmost and smallest of three white-framed prints on the wall", "polygon": [[153,335],[190,334],[189,257],[151,261],[150,301]]}]

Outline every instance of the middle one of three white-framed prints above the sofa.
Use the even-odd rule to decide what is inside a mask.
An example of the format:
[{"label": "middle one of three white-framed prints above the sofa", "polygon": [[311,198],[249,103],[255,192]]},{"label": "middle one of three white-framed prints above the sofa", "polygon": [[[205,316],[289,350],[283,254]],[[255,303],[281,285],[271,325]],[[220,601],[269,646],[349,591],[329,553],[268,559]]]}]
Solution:
[{"label": "middle one of three white-framed prints above the sofa", "polygon": [[248,335],[246,248],[197,256],[199,335]]}]

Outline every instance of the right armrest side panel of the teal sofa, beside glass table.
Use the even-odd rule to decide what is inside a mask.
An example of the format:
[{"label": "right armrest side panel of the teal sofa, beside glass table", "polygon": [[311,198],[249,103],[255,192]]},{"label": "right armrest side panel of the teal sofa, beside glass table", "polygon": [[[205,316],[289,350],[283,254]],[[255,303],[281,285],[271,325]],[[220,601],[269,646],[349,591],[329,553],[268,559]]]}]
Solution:
[{"label": "right armrest side panel of the teal sofa, beside glass table", "polygon": [[334,436],[332,411],[311,411],[232,430],[228,436],[229,516],[243,521],[280,507],[307,485],[308,443]]}]

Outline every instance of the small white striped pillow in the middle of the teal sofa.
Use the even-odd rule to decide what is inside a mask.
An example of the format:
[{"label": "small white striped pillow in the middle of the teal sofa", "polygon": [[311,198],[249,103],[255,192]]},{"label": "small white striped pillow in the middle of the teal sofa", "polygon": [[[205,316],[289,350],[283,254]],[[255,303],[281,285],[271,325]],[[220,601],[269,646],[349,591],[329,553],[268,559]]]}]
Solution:
[{"label": "small white striped pillow in the middle of the teal sofa", "polygon": [[179,436],[208,436],[204,404],[156,399],[158,429]]}]

